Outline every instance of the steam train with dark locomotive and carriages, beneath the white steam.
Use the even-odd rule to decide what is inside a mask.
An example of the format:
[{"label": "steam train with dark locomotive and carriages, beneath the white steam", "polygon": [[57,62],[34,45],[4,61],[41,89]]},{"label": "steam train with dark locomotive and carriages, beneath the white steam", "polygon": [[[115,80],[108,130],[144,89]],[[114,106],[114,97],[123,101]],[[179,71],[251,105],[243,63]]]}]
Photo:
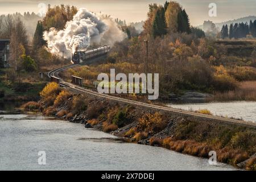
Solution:
[{"label": "steam train with dark locomotive and carriages, beneath the white steam", "polygon": [[72,61],[73,63],[82,63],[83,61],[86,61],[88,59],[105,55],[110,51],[110,46],[102,46],[97,49],[91,49],[88,51],[76,51],[72,55]]}]

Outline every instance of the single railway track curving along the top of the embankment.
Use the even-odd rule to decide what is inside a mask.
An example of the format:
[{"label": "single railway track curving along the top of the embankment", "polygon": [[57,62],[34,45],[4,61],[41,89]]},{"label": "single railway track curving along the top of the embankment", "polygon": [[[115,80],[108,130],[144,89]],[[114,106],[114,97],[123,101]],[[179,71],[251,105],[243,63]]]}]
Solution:
[{"label": "single railway track curving along the top of the embankment", "polygon": [[[54,76],[54,77],[60,78],[59,75],[58,75],[58,73],[60,71],[64,71],[65,69],[72,68],[72,67],[75,67],[77,65],[78,64],[70,64],[70,65],[65,65],[64,67],[61,67],[61,68],[57,68],[57,69],[49,72],[48,77]],[[77,86],[77,85],[71,84],[69,82],[66,82],[62,79],[60,80],[60,85],[67,86],[67,87],[75,89],[79,92],[88,93],[92,96],[102,97],[102,98],[106,98],[106,99],[109,99],[109,100],[123,102],[123,103],[126,103],[126,104],[133,104],[133,105],[137,105],[137,106],[148,107],[148,108],[151,108],[151,109],[171,111],[173,113],[181,114],[181,115],[187,115],[189,117],[198,117],[198,118],[203,118],[203,119],[210,119],[212,121],[234,123],[234,124],[237,124],[237,125],[249,126],[249,127],[255,127],[256,128],[256,123],[255,122],[242,121],[242,120],[239,120],[239,119],[226,118],[226,117],[221,117],[221,116],[217,116],[217,115],[207,115],[207,114],[195,113],[193,111],[175,109],[175,108],[167,107],[167,106],[147,104],[147,103],[139,102],[139,101],[131,101],[131,100],[127,100],[125,98],[114,97],[114,96],[109,96],[108,94],[101,94],[101,93],[98,93],[98,92],[94,92],[92,90],[82,88],[81,86]]]}]

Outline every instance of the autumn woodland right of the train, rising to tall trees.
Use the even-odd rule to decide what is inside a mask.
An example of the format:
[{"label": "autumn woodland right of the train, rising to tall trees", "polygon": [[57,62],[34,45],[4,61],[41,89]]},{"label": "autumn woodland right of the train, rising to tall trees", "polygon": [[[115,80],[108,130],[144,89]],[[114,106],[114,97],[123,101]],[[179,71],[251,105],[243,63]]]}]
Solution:
[{"label": "autumn woodland right of the train, rising to tall trees", "polygon": [[115,43],[108,63],[71,69],[69,74],[96,80],[110,68],[121,73],[146,72],[147,39],[148,72],[159,73],[163,98],[196,90],[219,96],[216,100],[256,100],[255,50],[246,56],[233,55],[230,46],[192,27],[185,10],[173,1],[149,5],[147,16],[139,36]]}]

